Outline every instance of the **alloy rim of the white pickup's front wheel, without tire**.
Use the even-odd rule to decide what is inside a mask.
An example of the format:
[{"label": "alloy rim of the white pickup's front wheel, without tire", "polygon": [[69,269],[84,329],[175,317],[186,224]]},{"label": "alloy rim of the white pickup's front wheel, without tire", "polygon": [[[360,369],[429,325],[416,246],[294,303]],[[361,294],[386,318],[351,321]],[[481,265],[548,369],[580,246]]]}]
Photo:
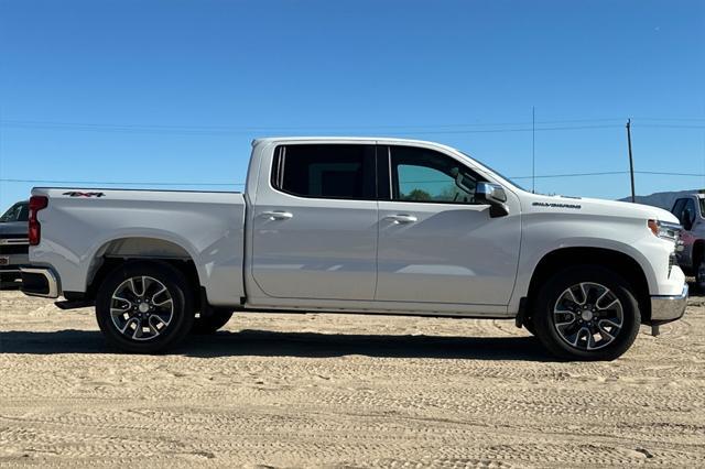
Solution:
[{"label": "alloy rim of the white pickup's front wheel, without tire", "polygon": [[578,350],[607,347],[625,323],[621,302],[605,285],[583,282],[565,290],[553,308],[558,336]]}]

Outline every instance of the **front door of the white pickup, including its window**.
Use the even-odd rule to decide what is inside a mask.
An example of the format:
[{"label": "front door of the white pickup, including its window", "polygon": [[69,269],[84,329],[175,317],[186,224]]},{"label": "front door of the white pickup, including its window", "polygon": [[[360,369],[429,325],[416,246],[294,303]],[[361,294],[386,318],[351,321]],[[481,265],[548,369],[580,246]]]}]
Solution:
[{"label": "front door of the white pickup, including its window", "polygon": [[490,218],[489,206],[475,201],[482,178],[459,160],[422,148],[383,149],[391,194],[379,203],[376,299],[509,304],[519,261],[518,209]]}]

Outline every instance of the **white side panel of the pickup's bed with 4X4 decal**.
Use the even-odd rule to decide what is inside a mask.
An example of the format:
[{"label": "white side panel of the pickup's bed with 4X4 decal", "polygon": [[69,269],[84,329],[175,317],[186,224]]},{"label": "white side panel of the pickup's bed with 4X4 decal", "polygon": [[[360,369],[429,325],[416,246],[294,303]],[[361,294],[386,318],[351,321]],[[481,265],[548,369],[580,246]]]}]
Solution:
[{"label": "white side panel of the pickup's bed with 4X4 decal", "polygon": [[139,254],[193,261],[215,306],[245,295],[240,193],[36,187],[32,195],[48,197],[32,263],[57,268],[63,292],[85,292],[105,259]]}]

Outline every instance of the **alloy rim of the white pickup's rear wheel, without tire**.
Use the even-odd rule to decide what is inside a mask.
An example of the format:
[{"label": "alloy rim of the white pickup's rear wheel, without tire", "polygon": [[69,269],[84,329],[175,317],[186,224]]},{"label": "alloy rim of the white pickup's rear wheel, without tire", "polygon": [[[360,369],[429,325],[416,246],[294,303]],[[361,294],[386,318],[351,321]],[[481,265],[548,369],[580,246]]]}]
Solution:
[{"label": "alloy rim of the white pickup's rear wheel, without tire", "polygon": [[112,324],[132,340],[159,337],[174,317],[174,301],[166,286],[151,276],[122,282],[110,299]]}]

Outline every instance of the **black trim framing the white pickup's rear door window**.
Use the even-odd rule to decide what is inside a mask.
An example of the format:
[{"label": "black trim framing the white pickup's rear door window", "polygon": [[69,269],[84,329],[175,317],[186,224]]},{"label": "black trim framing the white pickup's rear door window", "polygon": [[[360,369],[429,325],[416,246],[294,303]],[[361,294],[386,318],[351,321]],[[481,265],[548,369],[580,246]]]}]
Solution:
[{"label": "black trim framing the white pickup's rear door window", "polygon": [[[323,196],[307,196],[307,195],[302,195],[302,194],[294,194],[292,192],[289,192],[286,189],[284,189],[283,187],[283,182],[284,182],[284,163],[285,163],[285,159],[286,159],[286,148],[288,146],[294,146],[294,145],[311,145],[311,146],[334,146],[334,145],[346,145],[346,146],[362,146],[364,151],[366,150],[371,150],[373,152],[373,156],[372,156],[372,168],[368,170],[369,174],[366,174],[365,172],[365,166],[362,166],[362,187],[365,188],[366,184],[365,184],[365,176],[371,177],[372,178],[372,195],[371,197],[323,197]],[[364,154],[364,157],[367,157],[366,154]],[[373,143],[348,143],[348,142],[326,142],[326,143],[282,143],[279,144],[274,148],[273,152],[272,152],[272,164],[271,164],[271,168],[270,168],[270,177],[269,177],[269,184],[272,190],[278,192],[280,194],[285,194],[288,196],[291,197],[297,197],[297,198],[302,198],[302,199],[310,199],[310,200],[349,200],[349,201],[377,201],[378,200],[378,194],[379,194],[379,189],[378,189],[378,174],[377,174],[377,145]]]}]

